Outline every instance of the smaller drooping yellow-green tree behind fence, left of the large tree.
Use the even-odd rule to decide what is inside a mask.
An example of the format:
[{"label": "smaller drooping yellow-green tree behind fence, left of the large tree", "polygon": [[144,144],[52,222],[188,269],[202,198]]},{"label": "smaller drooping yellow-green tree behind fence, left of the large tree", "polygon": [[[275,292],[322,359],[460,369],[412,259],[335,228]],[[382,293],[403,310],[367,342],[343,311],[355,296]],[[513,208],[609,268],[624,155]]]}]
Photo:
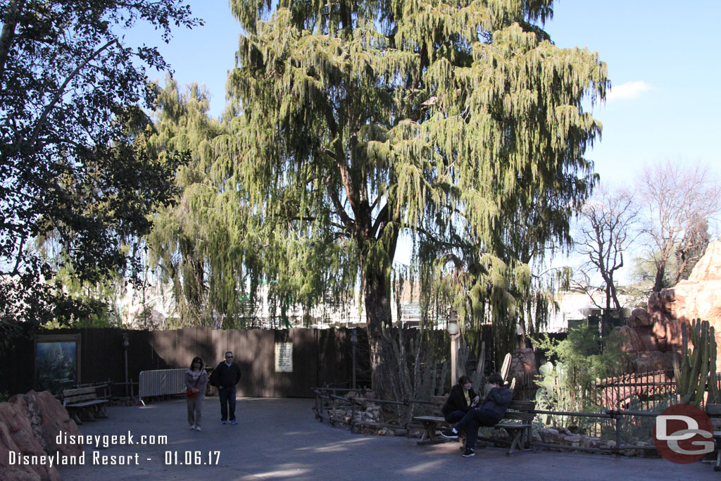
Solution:
[{"label": "smaller drooping yellow-green tree behind fence, left of the large tree", "polygon": [[242,236],[242,226],[227,229],[229,224],[219,221],[223,206],[231,204],[211,169],[211,141],[221,133],[221,125],[208,116],[208,94],[197,84],[180,92],[177,82],[168,77],[157,98],[151,145],[160,159],[187,152],[190,162],[175,174],[178,198],[154,216],[154,229],[147,237],[149,262],[158,268],[160,282],[172,283],[177,306],[174,327],[215,325],[216,319],[226,319],[237,307],[233,281],[228,287],[213,275],[218,264],[229,279],[242,277],[239,262],[222,262],[229,257],[229,237]]}]

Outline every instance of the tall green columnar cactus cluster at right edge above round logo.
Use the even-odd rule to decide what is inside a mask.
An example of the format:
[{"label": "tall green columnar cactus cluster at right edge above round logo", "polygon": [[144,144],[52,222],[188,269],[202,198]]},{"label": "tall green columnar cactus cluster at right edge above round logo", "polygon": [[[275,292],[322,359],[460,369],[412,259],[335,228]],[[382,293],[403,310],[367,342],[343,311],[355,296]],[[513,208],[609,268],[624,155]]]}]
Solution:
[{"label": "tall green columnar cactus cluster at right edge above round logo", "polygon": [[681,330],[681,366],[678,358],[673,358],[673,373],[676,375],[676,390],[684,404],[701,405],[704,392],[709,387],[708,402],[718,403],[719,390],[716,378],[716,338],[714,328],[708,321],[691,321],[691,344],[689,349],[689,330]]}]

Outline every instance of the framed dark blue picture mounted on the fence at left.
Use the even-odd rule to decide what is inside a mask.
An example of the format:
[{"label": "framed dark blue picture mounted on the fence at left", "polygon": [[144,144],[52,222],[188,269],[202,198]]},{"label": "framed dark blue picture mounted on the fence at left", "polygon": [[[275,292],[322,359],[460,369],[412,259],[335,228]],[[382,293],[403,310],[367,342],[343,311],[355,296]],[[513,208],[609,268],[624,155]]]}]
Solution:
[{"label": "framed dark blue picture mounted on the fence at left", "polygon": [[80,382],[80,335],[39,335],[35,340],[35,390],[58,394]]}]

